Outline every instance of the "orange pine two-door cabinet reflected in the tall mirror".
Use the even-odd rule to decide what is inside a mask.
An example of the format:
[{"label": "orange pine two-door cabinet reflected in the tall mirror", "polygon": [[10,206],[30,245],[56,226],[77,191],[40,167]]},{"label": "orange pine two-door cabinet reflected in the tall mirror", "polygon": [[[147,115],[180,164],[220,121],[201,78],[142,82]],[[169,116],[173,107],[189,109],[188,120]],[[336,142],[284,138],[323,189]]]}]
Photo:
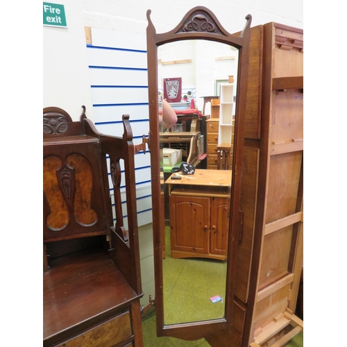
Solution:
[{"label": "orange pine two-door cabinet reflected in the tall mirror", "polygon": [[196,169],[193,175],[179,174],[171,174],[165,181],[169,190],[171,257],[226,260],[231,171]]}]

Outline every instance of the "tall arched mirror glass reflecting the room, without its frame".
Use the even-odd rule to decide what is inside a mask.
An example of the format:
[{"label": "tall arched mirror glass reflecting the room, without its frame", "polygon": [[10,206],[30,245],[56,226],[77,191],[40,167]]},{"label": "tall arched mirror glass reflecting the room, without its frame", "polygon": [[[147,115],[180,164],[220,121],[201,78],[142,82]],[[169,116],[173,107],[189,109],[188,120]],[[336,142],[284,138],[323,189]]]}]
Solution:
[{"label": "tall arched mirror glass reflecting the room, without its frame", "polygon": [[159,113],[163,98],[178,116],[160,127],[165,325],[225,316],[238,59],[208,40],[158,46]]}]

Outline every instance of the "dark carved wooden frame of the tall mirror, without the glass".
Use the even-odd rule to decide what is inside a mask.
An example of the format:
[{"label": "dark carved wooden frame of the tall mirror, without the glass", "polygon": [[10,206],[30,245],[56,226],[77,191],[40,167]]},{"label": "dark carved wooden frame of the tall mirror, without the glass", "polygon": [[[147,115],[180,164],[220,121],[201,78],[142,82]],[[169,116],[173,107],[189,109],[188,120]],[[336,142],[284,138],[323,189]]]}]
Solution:
[{"label": "dark carved wooden frame of the tall mirror, without the glass", "polygon": [[[219,329],[230,328],[232,325],[236,252],[242,220],[239,218],[240,192],[242,182],[242,152],[244,147],[244,126],[246,113],[246,92],[248,80],[248,60],[251,39],[251,15],[245,17],[246,24],[238,35],[228,33],[219,23],[217,17],[203,6],[189,10],[181,22],[167,33],[156,33],[151,22],[151,10],[147,11],[148,26],[147,36],[147,62],[149,83],[149,139],[151,152],[151,186],[152,186],[152,211],[153,211],[153,251],[155,271],[155,310],[157,322],[157,335],[171,336],[179,339],[201,339],[211,332]],[[196,25],[205,21],[208,25]],[[228,241],[228,265],[226,282],[225,315],[222,319],[197,321],[164,325],[163,301],[163,269],[162,269],[162,244],[160,226],[160,139],[159,139],[159,108],[158,108],[158,46],[180,40],[210,40],[234,46],[239,50],[237,72],[237,94],[235,110],[235,139],[232,157],[232,185],[230,198],[230,237]],[[164,246],[164,245],[163,245]]]}]

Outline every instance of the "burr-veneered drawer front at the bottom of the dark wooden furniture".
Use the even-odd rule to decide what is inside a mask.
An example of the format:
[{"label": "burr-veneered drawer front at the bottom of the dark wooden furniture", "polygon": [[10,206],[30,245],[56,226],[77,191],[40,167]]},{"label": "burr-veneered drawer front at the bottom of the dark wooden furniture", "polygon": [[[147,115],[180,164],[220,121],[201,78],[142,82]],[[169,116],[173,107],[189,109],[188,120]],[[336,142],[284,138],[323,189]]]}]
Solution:
[{"label": "burr-veneered drawer front at the bottom of the dark wooden furniture", "polygon": [[[57,347],[112,347],[119,342],[132,337],[133,330],[130,322],[130,312],[126,311],[115,318],[105,321],[81,335],[64,342]],[[126,343],[126,342],[125,342]],[[132,346],[127,344],[126,346]]]}]

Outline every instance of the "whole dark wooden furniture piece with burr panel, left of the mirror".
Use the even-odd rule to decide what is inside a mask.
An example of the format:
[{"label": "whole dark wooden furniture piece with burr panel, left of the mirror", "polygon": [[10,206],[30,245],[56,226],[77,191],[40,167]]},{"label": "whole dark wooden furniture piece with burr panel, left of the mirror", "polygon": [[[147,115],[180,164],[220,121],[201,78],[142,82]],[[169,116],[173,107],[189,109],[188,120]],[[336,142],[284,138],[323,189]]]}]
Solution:
[{"label": "whole dark wooden furniture piece with burr panel, left of the mirror", "polygon": [[[43,110],[43,346],[142,347],[135,146]],[[124,163],[128,232],[121,212]],[[115,200],[113,223],[109,187]]]}]

